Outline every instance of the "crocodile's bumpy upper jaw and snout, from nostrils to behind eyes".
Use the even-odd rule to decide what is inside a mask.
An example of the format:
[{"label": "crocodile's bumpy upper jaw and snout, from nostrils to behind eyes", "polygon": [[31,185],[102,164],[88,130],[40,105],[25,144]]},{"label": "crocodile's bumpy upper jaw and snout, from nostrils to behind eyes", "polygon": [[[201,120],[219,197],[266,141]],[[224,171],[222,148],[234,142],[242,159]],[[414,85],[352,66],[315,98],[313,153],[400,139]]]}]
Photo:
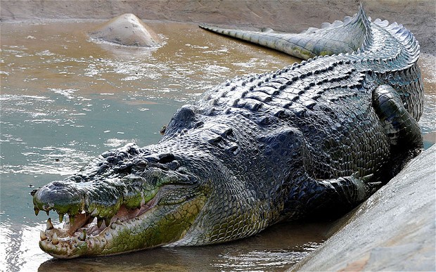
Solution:
[{"label": "crocodile's bumpy upper jaw and snout, from nostrils to behind eyes", "polygon": [[150,201],[164,183],[190,183],[191,177],[179,174],[180,162],[169,153],[153,154],[126,145],[98,156],[77,174],[53,181],[32,192],[34,211],[55,210],[62,221],[84,213],[99,224],[117,214],[121,206],[136,209]]}]

